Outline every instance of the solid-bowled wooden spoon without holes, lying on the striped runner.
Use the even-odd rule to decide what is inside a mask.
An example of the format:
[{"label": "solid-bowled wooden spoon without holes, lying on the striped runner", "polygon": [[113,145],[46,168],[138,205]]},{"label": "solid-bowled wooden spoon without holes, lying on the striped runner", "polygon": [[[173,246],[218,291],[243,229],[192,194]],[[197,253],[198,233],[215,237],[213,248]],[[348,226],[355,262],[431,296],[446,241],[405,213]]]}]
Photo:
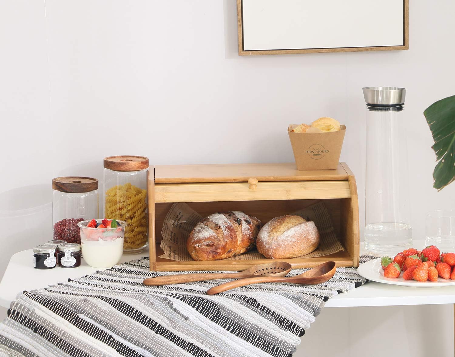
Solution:
[{"label": "solid-bowled wooden spoon without holes, lying on the striped runner", "polygon": [[319,264],[313,269],[307,270],[305,273],[296,275],[295,277],[256,277],[236,280],[229,283],[224,283],[207,290],[207,295],[215,295],[217,293],[222,293],[223,291],[230,290],[233,288],[238,288],[239,286],[245,286],[249,284],[257,283],[295,283],[301,285],[313,285],[324,283],[330,278],[332,278],[337,270],[335,262],[325,262]]}]

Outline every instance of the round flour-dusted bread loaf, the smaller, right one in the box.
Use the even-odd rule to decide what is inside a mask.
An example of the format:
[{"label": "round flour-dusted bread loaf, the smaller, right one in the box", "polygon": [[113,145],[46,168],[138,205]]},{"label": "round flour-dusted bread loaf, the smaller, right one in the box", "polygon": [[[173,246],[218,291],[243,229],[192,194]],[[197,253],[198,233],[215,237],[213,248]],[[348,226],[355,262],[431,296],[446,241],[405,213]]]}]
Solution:
[{"label": "round flour-dusted bread loaf, the smaller, right one in the box", "polygon": [[313,221],[286,215],[268,221],[259,232],[256,244],[266,258],[296,258],[318,247],[319,232]]}]

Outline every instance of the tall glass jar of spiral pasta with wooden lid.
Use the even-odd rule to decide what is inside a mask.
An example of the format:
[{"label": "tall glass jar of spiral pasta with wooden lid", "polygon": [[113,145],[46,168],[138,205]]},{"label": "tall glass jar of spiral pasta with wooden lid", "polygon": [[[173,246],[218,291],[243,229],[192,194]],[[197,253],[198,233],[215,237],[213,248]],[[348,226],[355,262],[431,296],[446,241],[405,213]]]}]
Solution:
[{"label": "tall glass jar of spiral pasta with wooden lid", "polygon": [[104,159],[104,218],[125,221],[123,253],[139,253],[148,245],[148,158]]}]

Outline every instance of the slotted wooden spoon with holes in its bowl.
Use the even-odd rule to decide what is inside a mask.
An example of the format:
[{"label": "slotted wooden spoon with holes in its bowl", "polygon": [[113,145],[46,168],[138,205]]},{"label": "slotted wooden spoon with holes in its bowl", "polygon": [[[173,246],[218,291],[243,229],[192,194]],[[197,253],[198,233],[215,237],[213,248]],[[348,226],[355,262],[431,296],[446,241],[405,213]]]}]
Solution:
[{"label": "slotted wooden spoon with holes in its bowl", "polygon": [[291,271],[292,266],[286,262],[273,262],[267,264],[259,264],[251,267],[247,270],[243,270],[238,273],[192,273],[192,274],[178,274],[178,275],[166,275],[156,278],[144,279],[144,285],[160,286],[170,284],[181,284],[198,282],[202,280],[213,280],[213,279],[240,279],[240,278],[252,278],[252,277],[285,277]]}]

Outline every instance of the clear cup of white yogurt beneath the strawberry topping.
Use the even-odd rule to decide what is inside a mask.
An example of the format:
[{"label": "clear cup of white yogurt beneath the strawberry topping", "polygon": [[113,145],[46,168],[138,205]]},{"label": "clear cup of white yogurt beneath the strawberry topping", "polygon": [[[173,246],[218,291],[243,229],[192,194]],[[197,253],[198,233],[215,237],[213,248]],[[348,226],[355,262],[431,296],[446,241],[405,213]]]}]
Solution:
[{"label": "clear cup of white yogurt beneath the strawberry topping", "polygon": [[[111,268],[123,254],[126,222],[117,221],[115,228],[89,228],[91,220],[77,223],[81,229],[82,258],[93,268]],[[96,219],[101,223],[101,219]]]}]

